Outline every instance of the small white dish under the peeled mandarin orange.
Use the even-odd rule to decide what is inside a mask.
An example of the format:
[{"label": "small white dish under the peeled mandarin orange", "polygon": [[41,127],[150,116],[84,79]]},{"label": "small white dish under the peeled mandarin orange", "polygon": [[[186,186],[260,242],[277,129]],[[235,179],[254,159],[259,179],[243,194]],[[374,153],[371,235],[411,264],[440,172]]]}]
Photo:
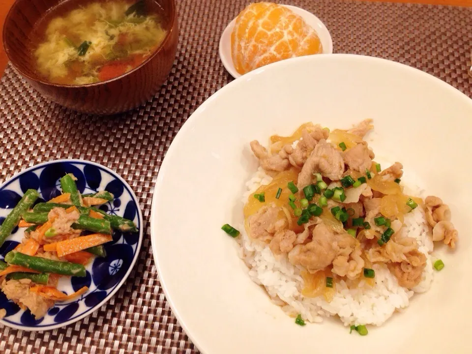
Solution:
[{"label": "small white dish under the peeled mandarin orange", "polygon": [[[333,39],[331,38],[331,34],[329,34],[328,29],[318,17],[313,15],[311,12],[296,6],[284,6],[294,11],[297,15],[300,15],[309,26],[316,30],[316,33],[320,37],[321,44],[323,45],[323,54],[333,53]],[[225,30],[221,34],[218,52],[225,69],[228,70],[231,76],[237,79],[241,76],[241,74],[236,71],[235,65],[233,64],[233,59],[231,58],[231,32],[233,32],[235,24],[236,18],[233,19],[233,21],[231,21],[228,26],[226,26]]]}]

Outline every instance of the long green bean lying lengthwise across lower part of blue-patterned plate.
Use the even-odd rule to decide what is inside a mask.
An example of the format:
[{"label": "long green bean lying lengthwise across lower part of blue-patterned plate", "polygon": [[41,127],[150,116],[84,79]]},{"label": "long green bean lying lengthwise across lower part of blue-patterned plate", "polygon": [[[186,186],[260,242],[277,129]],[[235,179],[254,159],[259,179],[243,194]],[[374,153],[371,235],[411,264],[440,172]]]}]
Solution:
[{"label": "long green bean lying lengthwise across lower part of blue-patterned plate", "polygon": [[71,275],[85,277],[87,272],[85,267],[80,264],[60,262],[41,257],[28,256],[26,254],[10,251],[5,256],[8,264],[15,266],[24,266],[29,269],[37,270],[42,273],[56,273],[61,275]]}]

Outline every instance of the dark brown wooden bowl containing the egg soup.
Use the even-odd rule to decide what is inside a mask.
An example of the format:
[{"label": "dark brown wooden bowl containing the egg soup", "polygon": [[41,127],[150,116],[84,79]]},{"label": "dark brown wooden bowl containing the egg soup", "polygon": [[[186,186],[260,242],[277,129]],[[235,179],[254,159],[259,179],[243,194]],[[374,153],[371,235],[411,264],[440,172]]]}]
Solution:
[{"label": "dark brown wooden bowl containing the egg soup", "polygon": [[163,10],[167,34],[148,59],[115,79],[87,85],[51,83],[34,70],[30,39],[34,25],[62,1],[16,0],[8,12],[3,28],[3,46],[18,72],[51,101],[79,112],[114,114],[149,100],[165,82],[176,57],[178,26],[175,0],[152,0]]}]

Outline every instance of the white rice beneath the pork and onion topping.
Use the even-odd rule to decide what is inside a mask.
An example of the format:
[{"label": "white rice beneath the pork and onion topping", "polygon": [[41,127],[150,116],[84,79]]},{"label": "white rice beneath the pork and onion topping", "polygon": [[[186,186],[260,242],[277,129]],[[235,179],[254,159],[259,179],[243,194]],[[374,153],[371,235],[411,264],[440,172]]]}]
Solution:
[{"label": "white rice beneath the pork and onion topping", "polygon": [[[250,194],[261,185],[271,182],[262,168],[246,183],[247,191],[242,202],[246,203]],[[419,191],[409,190],[410,195],[418,195]],[[423,293],[429,290],[433,281],[433,266],[430,252],[433,250],[433,241],[429,235],[423,210],[418,207],[405,216],[403,232],[405,236],[416,239],[418,249],[427,257],[423,278],[412,290],[400,287],[397,279],[383,264],[375,264],[375,286],[363,288],[363,281],[359,288],[348,289],[346,283],[336,283],[336,294],[331,302],[323,296],[310,298],[301,295],[303,279],[300,269],[293,266],[287,257],[276,258],[268,246],[262,246],[245,234],[241,225],[239,237],[240,257],[249,268],[249,276],[259,285],[266,288],[272,300],[281,305],[283,310],[291,315],[301,314],[309,322],[322,322],[323,317],[337,315],[348,326],[351,324],[381,325],[388,320],[395,310],[401,310],[410,304],[414,293]],[[281,301],[282,300],[282,301]]]}]

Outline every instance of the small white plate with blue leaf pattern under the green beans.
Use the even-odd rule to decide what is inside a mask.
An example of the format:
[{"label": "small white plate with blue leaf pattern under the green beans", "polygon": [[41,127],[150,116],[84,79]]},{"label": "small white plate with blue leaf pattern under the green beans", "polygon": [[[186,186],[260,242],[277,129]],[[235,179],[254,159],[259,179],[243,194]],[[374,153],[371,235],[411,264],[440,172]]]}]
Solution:
[{"label": "small white plate with blue leaf pattern under the green beans", "polygon": [[[94,162],[82,160],[57,160],[33,166],[0,186],[0,224],[16,206],[27,189],[37,189],[40,198],[36,203],[48,201],[60,194],[59,178],[67,173],[77,177],[81,193],[107,190],[115,200],[100,206],[109,214],[133,220],[139,233],[113,233],[113,241],[105,244],[107,257],[95,257],[87,266],[87,276],[61,277],[59,290],[71,294],[83,286],[89,291],[82,296],[64,302],[56,302],[46,316],[36,320],[29,310],[21,310],[0,293],[0,308],[6,316],[0,323],[23,330],[49,330],[74,323],[98,309],[112,297],[124,283],[135,264],[143,240],[143,216],[139,203],[130,186],[112,170]],[[16,247],[25,229],[15,228],[13,234],[0,247],[0,259]]]}]

